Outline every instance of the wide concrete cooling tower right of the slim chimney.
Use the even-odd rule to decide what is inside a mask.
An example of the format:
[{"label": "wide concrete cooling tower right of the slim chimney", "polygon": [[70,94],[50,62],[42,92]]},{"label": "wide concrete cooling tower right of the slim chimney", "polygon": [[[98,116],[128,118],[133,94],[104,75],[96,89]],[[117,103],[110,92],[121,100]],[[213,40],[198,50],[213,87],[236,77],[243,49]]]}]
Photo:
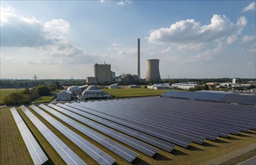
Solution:
[{"label": "wide concrete cooling tower right of the slim chimney", "polygon": [[149,59],[148,68],[146,71],[146,81],[159,81],[161,80],[159,74],[159,59]]}]

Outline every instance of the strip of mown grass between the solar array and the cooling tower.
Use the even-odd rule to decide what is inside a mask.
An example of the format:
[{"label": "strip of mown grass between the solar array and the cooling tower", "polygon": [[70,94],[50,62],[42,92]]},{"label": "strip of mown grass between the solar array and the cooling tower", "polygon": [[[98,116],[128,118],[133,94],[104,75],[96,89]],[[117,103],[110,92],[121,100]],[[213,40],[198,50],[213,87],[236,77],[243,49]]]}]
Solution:
[{"label": "strip of mown grass between the solar array and the cooling tower", "polygon": [[130,97],[142,97],[142,96],[158,96],[162,95],[168,90],[152,90],[152,89],[101,89],[108,92],[115,98],[130,98]]}]

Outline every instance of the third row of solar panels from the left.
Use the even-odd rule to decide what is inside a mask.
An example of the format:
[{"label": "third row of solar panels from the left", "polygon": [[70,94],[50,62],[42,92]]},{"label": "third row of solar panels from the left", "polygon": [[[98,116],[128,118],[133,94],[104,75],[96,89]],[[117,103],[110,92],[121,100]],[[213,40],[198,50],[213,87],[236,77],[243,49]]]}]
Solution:
[{"label": "third row of solar panels from the left", "polygon": [[83,139],[82,136],[78,135],[73,130],[69,129],[52,116],[48,115],[47,113],[44,113],[43,110],[39,109],[38,107],[35,107],[35,105],[32,105],[30,107],[43,118],[45,118],[50,124],[52,124],[53,127],[56,127],[57,130],[59,130],[62,134],[68,137],[68,139],[74,142],[74,144],[76,144],[79,148],[85,151],[86,154],[89,154],[89,156],[92,157],[98,163],[113,164],[116,161],[112,157],[110,157],[110,155],[106,154],[104,151],[101,151],[101,149],[95,147],[95,145],[92,145],[91,142],[88,142],[86,139]]}]

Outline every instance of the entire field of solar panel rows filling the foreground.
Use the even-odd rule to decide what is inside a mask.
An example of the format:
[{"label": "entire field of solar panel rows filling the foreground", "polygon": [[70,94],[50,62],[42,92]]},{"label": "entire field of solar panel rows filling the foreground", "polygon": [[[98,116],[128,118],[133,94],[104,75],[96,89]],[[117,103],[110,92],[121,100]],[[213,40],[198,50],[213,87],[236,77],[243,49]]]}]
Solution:
[{"label": "entire field of solar panel rows filling the foreground", "polygon": [[[116,160],[66,127],[62,122],[130,163],[136,159],[138,154],[122,144],[153,157],[158,148],[170,152],[175,145],[188,148],[191,142],[202,144],[205,139],[215,140],[218,136],[227,137],[230,133],[238,134],[240,131],[256,130],[254,105],[245,104],[245,101],[241,101],[243,104],[224,103],[223,99],[227,99],[227,95],[181,93],[183,92],[166,93],[162,97],[74,102],[72,104],[49,104],[48,106],[41,104],[39,107],[30,106],[31,110],[24,106],[21,106],[20,109],[68,164],[85,164],[85,162],[46,127],[31,112],[32,110],[46,119],[48,123],[99,164],[112,164]],[[236,99],[239,100],[239,98]],[[33,136],[17,110],[11,108],[11,113],[27,148],[31,151],[30,145],[38,148],[35,144],[36,141],[30,140],[33,139]],[[56,118],[59,118],[60,121]],[[45,162],[47,157],[41,151],[40,146],[36,151],[31,154],[32,159],[35,159],[34,162]],[[42,157],[41,161],[39,156]]]}]

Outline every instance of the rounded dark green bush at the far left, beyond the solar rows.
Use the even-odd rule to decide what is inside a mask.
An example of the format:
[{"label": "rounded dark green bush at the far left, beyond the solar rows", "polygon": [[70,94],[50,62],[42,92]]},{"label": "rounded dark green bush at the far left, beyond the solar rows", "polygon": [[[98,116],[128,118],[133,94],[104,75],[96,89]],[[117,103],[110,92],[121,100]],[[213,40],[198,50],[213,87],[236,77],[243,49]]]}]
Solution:
[{"label": "rounded dark green bush at the far left, beyond the solar rows", "polygon": [[5,96],[4,104],[6,105],[21,105],[21,104],[29,104],[31,99],[29,95],[23,95],[20,92],[11,93],[8,96]]}]

